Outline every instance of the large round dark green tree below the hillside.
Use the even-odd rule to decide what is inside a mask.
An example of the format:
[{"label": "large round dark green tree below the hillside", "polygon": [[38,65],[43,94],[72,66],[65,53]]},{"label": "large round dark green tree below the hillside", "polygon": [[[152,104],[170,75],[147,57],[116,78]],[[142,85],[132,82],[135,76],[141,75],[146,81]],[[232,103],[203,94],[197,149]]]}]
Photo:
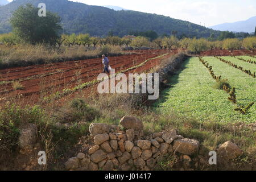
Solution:
[{"label": "large round dark green tree below the hillside", "polygon": [[10,19],[14,34],[30,44],[55,44],[61,30],[60,17],[49,11],[45,17],[40,17],[38,10],[31,4],[20,6]]}]

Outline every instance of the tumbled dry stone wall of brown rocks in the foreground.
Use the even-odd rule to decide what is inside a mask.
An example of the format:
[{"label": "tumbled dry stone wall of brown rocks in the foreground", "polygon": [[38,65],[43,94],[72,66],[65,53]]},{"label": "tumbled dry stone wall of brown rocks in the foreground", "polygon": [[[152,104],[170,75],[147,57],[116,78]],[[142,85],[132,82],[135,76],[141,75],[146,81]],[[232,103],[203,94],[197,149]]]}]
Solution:
[{"label": "tumbled dry stone wall of brown rocks in the foreground", "polygon": [[189,155],[199,152],[199,142],[177,135],[174,129],[150,135],[143,134],[143,123],[135,117],[126,116],[119,126],[92,123],[90,135],[94,146],[89,151],[68,159],[68,170],[112,171],[154,170],[164,158],[181,154],[181,158],[191,162]]}]

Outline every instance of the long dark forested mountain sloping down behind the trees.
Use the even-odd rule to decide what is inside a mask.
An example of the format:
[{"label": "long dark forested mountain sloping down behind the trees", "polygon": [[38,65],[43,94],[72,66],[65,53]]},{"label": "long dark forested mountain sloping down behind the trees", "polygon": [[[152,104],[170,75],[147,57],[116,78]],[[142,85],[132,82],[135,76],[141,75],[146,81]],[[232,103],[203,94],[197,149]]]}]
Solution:
[{"label": "long dark forested mountain sloping down behind the trees", "polygon": [[123,36],[129,32],[153,30],[159,35],[177,31],[177,36],[188,35],[197,38],[220,34],[219,31],[163,15],[139,11],[114,11],[102,6],[89,6],[68,0],[16,0],[2,6],[0,7],[0,33],[11,31],[9,18],[20,5],[31,3],[38,6],[41,2],[46,3],[48,11],[60,15],[64,23],[64,31],[67,33],[105,36],[113,31],[113,35]]}]

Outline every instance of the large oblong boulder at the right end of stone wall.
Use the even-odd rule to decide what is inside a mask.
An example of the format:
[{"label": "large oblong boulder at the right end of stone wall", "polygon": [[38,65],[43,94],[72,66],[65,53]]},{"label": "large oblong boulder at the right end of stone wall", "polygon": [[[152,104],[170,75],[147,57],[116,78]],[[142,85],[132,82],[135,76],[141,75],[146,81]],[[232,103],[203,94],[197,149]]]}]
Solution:
[{"label": "large oblong boulder at the right end of stone wall", "polygon": [[174,140],[172,148],[180,154],[193,155],[198,153],[199,145],[199,141],[197,140],[183,138]]}]

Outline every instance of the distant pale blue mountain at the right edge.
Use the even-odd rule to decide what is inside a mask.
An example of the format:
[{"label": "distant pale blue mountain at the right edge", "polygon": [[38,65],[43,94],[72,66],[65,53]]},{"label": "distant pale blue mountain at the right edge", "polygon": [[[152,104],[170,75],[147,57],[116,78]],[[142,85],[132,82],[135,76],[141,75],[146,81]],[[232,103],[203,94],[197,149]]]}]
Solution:
[{"label": "distant pale blue mountain at the right edge", "polygon": [[216,26],[212,26],[213,30],[220,31],[232,31],[232,32],[254,32],[256,26],[256,16],[247,19],[245,21],[234,23],[222,23]]}]

